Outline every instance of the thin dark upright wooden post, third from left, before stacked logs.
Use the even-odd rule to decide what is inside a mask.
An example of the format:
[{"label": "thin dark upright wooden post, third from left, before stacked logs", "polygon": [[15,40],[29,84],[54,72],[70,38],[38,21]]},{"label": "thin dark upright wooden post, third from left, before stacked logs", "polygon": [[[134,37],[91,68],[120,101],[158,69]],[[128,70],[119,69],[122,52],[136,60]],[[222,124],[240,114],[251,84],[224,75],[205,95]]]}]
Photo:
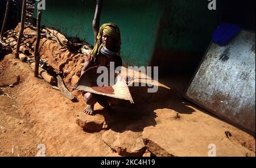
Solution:
[{"label": "thin dark upright wooden post, third from left, before stacked logs", "polygon": [[[40,1],[38,1],[40,2]],[[38,18],[36,19],[36,45],[35,45],[35,77],[38,77],[38,69],[39,69],[39,44],[40,44],[40,36],[41,36],[41,14],[42,11],[38,9]]]}]

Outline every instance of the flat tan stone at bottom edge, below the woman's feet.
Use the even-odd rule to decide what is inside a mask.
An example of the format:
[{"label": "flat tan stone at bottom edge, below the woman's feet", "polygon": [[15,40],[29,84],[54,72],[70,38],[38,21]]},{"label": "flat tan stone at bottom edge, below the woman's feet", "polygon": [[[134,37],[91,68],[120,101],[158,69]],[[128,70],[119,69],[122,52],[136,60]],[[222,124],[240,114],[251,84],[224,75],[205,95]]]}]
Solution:
[{"label": "flat tan stone at bottom edge, below the woman's feet", "polygon": [[141,132],[114,132],[111,129],[102,135],[102,140],[121,156],[142,156],[146,150]]}]

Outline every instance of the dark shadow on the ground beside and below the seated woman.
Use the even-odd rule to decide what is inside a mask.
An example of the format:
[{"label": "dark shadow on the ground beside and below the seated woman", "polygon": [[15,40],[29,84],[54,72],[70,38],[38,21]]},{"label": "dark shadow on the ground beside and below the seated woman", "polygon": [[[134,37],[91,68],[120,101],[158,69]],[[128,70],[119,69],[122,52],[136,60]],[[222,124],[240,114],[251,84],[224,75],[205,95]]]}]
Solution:
[{"label": "dark shadow on the ground beside and below the seated woman", "polygon": [[[155,94],[148,94],[146,92],[147,87],[132,88],[130,90],[131,95],[135,96],[135,104],[130,104],[129,101],[123,100],[118,106],[112,107],[115,111],[112,115],[109,115],[104,108],[96,110],[94,113],[103,115],[106,124],[110,126],[112,131],[122,133],[125,131],[142,132],[145,127],[154,127],[157,124],[156,117],[158,117],[155,111],[159,109],[168,109],[172,113],[175,111],[175,113],[179,114],[192,114],[195,112],[195,110],[188,107],[190,105],[189,102],[184,100],[182,96],[178,96],[182,95],[182,93],[176,93],[180,90],[183,91],[182,89],[170,88],[175,91],[160,88],[160,93]],[[162,95],[163,97],[158,97]]]}]

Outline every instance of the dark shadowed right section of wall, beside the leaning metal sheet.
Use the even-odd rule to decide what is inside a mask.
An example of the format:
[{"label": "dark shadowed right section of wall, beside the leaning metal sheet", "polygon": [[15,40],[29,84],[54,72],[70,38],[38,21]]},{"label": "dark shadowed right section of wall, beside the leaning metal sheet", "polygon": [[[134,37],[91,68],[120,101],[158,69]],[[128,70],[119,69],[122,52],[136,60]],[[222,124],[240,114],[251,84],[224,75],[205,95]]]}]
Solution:
[{"label": "dark shadowed right section of wall, beside the leaning metal sheet", "polygon": [[162,17],[151,66],[159,66],[159,74],[193,74],[212,39],[221,15],[208,9],[205,0],[162,0]]}]

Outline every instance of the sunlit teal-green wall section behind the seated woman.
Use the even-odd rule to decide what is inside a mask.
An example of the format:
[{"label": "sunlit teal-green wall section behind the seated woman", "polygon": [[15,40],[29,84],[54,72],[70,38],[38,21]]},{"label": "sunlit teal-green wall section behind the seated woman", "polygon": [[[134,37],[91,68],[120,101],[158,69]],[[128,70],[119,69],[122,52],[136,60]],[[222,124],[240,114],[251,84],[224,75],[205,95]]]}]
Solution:
[{"label": "sunlit teal-green wall section behind the seated woman", "polygon": [[[160,20],[159,2],[108,0],[103,2],[100,24],[113,22],[121,30],[121,57],[128,65],[148,65]],[[46,1],[42,25],[58,28],[66,36],[94,43],[92,20],[96,0]]]}]

